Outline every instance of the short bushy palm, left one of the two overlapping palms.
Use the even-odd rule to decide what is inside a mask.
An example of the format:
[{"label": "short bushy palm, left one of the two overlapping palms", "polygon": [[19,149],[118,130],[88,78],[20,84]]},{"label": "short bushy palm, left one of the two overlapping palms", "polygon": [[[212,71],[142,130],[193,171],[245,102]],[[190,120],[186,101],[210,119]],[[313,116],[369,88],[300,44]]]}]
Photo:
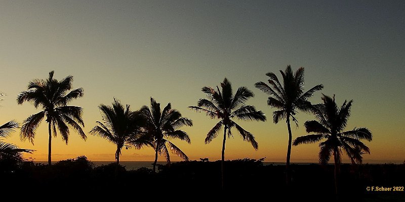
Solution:
[{"label": "short bushy palm, left one of the two overlapping palms", "polygon": [[101,104],[99,109],[102,113],[103,123],[97,121],[90,134],[98,135],[117,145],[115,160],[119,164],[121,149],[125,146],[135,146],[140,149],[144,145],[151,145],[151,140],[142,134],[143,116],[140,111],[132,112],[130,105],[123,105],[114,98],[111,106]]}]

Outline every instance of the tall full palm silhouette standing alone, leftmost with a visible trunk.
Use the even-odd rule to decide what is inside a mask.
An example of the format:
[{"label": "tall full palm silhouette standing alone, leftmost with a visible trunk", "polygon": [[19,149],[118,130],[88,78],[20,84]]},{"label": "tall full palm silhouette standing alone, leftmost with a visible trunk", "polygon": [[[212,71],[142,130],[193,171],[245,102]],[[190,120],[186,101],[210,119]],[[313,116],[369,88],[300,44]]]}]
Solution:
[{"label": "tall full palm silhouette standing alone, leftmost with a visible trunk", "polygon": [[67,144],[69,138],[70,125],[84,140],[87,136],[83,132],[85,126],[82,119],[83,109],[76,106],[67,106],[67,104],[78,97],[83,96],[83,88],[71,89],[73,76],[69,75],[58,81],[54,78],[54,71],[49,73],[47,80],[34,79],[28,83],[26,91],[22,91],[17,96],[17,103],[23,104],[25,101],[30,102],[35,108],[41,106],[43,111],[33,114],[24,120],[21,127],[20,137],[22,140],[28,139],[34,144],[35,130],[39,123],[46,117],[48,122],[49,144],[48,144],[48,165],[51,165],[51,140],[52,129],[56,137],[56,128],[62,135],[62,140]]}]

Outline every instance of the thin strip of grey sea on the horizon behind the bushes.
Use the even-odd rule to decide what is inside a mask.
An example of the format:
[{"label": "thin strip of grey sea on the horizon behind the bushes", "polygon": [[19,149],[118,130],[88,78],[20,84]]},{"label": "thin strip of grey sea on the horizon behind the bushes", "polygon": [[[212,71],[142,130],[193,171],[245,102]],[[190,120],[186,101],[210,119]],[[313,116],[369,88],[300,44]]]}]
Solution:
[{"label": "thin strip of grey sea on the horizon behind the bushes", "polygon": [[[41,163],[41,164],[48,164],[47,161],[35,161],[35,163]],[[52,162],[52,164],[55,164],[57,162]],[[114,163],[113,161],[92,161],[92,163],[98,167],[102,165],[107,165],[110,163]],[[175,162],[172,162],[175,163]],[[138,168],[150,168],[153,169],[153,161],[120,161],[120,165],[125,166],[125,169],[127,170],[137,170]],[[166,162],[164,161],[158,161],[157,164],[165,165]],[[276,165],[286,165],[286,162],[263,162],[264,166],[271,165],[273,164],[274,166]],[[309,164],[317,164],[317,163],[291,163],[291,164],[298,164],[298,165],[309,165]]]}]

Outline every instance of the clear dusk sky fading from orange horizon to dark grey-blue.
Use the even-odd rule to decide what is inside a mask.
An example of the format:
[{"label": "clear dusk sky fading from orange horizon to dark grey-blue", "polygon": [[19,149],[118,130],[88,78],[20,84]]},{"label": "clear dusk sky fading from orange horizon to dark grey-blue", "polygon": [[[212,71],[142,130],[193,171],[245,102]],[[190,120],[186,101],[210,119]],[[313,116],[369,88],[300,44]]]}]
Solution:
[{"label": "clear dusk sky fading from orange horizon to dark grey-blue", "polygon": [[[100,104],[113,98],[138,110],[150,97],[161,106],[172,104],[193,127],[183,127],[191,144],[174,140],[190,160],[221,158],[219,135],[205,144],[207,132],[218,122],[188,106],[206,95],[201,87],[220,85],[226,77],[234,91],[246,86],[255,93],[248,100],[263,111],[266,122],[236,122],[252,132],[256,151],[237,135],[226,141],[225,159],[285,162],[288,130],[285,121],[272,122],[276,109],[254,87],[268,72],[291,65],[305,68],[305,89],[325,87],[338,105],[353,99],[347,130],[367,127],[373,140],[363,163],[402,163],[405,160],[405,2],[404,1],[0,1],[0,124],[22,123],[39,112],[30,103],[17,105],[28,82],[73,76],[73,88],[85,95],[70,105],[84,108],[88,139],[73,130],[66,145],[52,139],[52,161],[86,156],[91,161],[114,161],[116,146],[89,134],[101,121]],[[293,139],[306,135],[297,115]],[[47,161],[48,130],[43,122],[34,144],[21,141],[19,129],[3,141],[35,149],[24,155]],[[317,144],[292,147],[291,162],[317,162]],[[180,158],[171,155],[172,161]],[[122,151],[120,161],[153,161],[152,148]],[[164,160],[159,157],[159,161]],[[344,162],[349,162],[344,157]]]}]

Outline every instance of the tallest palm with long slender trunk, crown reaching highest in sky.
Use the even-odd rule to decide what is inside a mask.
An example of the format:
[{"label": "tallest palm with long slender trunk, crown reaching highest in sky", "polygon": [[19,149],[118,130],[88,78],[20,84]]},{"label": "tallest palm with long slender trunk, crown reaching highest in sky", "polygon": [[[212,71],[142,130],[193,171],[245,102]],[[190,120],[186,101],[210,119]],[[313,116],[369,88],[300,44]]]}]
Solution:
[{"label": "tallest palm with long slender trunk, crown reaching highest in sky", "polygon": [[291,141],[292,133],[290,126],[290,118],[298,126],[298,121],[295,118],[297,110],[308,112],[311,108],[311,103],[307,100],[317,90],[323,88],[322,84],[312,87],[304,92],[304,68],[300,67],[295,74],[291,66],[287,66],[285,72],[280,70],[283,84],[280,83],[277,76],[269,72],[266,75],[270,77],[268,80],[269,85],[264,82],[257,82],[255,86],[269,95],[267,105],[277,108],[278,111],[273,112],[273,122],[277,124],[280,120],[286,119],[288,128],[288,148],[287,148],[287,161],[286,161],[286,177],[287,185],[291,182],[290,170],[290,156],[291,156]]}]

